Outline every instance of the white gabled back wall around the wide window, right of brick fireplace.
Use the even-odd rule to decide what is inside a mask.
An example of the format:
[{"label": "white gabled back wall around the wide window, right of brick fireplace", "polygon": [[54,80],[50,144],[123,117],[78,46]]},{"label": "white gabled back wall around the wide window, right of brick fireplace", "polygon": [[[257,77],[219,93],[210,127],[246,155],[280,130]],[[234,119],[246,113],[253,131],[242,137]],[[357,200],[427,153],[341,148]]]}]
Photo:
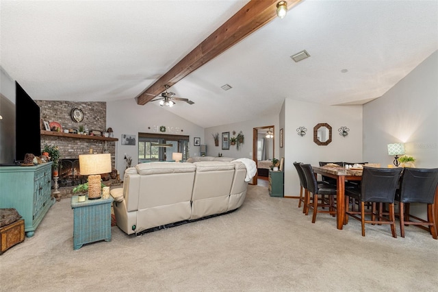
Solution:
[{"label": "white gabled back wall around the wide window, right of brick fireplace", "polygon": [[[159,132],[160,126],[170,128],[170,132]],[[193,145],[193,138],[200,137],[204,141],[204,128],[187,121],[171,111],[164,110],[153,104],[139,106],[135,99],[107,102],[107,127],[112,127],[114,138],[118,138],[116,145],[116,168],[120,178],[126,168],[125,153],[132,157],[132,165],[138,163],[138,132],[178,134],[190,136],[190,155],[199,155],[199,146]],[[183,130],[181,132],[181,130]],[[136,145],[121,145],[122,134],[135,134]]]}]

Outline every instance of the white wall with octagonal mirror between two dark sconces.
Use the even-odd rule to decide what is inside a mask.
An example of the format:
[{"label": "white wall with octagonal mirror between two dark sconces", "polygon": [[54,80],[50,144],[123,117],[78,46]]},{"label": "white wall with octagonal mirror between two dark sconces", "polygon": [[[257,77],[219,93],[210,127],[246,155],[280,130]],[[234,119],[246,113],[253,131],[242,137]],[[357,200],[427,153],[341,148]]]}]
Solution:
[{"label": "white wall with octagonal mirror between two dark sconces", "polygon": [[[332,142],[320,146],[313,142],[313,127],[328,123]],[[305,136],[296,129],[307,128]],[[348,136],[339,135],[339,127],[350,129]],[[320,161],[362,162],[362,106],[325,106],[294,99],[285,100],[285,196],[300,194],[300,181],[295,161],[318,165]],[[368,162],[374,162],[372,159]]]}]

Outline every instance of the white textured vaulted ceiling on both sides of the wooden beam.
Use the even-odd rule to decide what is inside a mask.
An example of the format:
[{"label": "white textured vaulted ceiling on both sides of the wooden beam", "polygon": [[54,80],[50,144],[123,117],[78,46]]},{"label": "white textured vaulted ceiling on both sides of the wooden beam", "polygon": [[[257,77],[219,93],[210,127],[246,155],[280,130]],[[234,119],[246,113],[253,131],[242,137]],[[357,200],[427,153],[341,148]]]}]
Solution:
[{"label": "white textured vaulted ceiling on both sides of the wooden beam", "polygon": [[[247,2],[1,0],[0,64],[34,99],[133,99]],[[172,86],[195,104],[166,109],[211,127],[285,98],[363,104],[437,49],[438,1],[305,0]]]}]

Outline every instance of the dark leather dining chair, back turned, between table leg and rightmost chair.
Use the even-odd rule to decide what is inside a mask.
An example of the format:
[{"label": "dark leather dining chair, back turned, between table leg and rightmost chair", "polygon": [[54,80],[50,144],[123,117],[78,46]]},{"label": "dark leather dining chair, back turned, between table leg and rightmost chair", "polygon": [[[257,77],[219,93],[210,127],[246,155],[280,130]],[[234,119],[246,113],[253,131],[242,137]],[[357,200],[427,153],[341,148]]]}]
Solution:
[{"label": "dark leather dining chair, back turned, between table leg and rightmost chair", "polygon": [[[402,168],[379,169],[374,167],[363,167],[362,182],[358,188],[346,188],[346,215],[361,221],[362,236],[365,236],[365,223],[371,224],[391,224],[391,233],[394,238],[396,234],[396,217],[394,213],[394,199],[396,188],[400,179]],[[349,198],[353,197],[361,202],[361,210],[349,210]],[[371,203],[371,210],[365,212],[365,203]],[[381,211],[376,210],[376,203],[389,204],[389,218],[385,217]],[[358,217],[357,215],[361,215]],[[370,216],[370,220],[365,219]],[[376,220],[376,217],[378,220]]]}]

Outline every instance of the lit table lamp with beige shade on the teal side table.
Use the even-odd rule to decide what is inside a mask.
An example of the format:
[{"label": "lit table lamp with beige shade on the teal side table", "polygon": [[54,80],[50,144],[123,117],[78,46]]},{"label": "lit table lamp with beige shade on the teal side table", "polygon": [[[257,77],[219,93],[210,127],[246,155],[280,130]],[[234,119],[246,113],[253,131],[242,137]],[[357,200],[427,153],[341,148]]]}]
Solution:
[{"label": "lit table lamp with beige shade on the teal side table", "polygon": [[79,155],[79,172],[88,175],[88,199],[101,197],[101,173],[111,171],[111,154]]}]

